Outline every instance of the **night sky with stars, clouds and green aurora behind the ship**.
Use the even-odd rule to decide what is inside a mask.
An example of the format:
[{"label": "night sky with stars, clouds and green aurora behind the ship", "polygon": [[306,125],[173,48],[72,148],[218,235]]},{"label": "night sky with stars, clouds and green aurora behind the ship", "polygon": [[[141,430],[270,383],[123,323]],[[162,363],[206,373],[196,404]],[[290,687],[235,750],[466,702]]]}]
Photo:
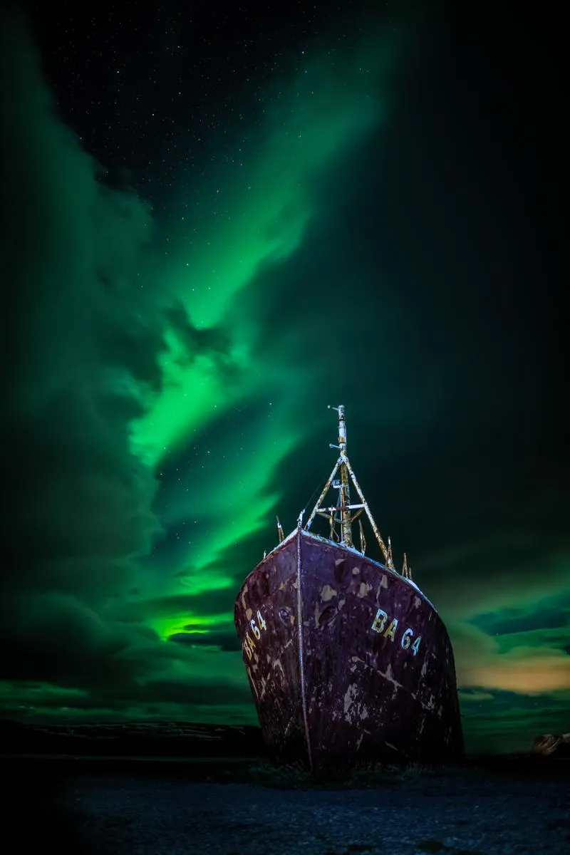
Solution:
[{"label": "night sky with stars, clouds and green aurora behind the ship", "polygon": [[570,728],[561,29],[494,9],[3,7],[1,716],[256,722],[342,403],[467,749]]}]

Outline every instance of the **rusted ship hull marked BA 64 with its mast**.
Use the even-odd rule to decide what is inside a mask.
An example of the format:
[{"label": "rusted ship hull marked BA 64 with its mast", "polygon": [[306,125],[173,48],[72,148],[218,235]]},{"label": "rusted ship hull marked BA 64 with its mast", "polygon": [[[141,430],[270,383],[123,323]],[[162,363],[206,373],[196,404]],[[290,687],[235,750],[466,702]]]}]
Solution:
[{"label": "rusted ship hull marked BA 64 with its mast", "polygon": [[[340,453],[307,522],[244,581],[235,623],[270,757],[314,773],[356,764],[450,763],[463,757],[450,638],[412,580],[394,569],[346,453]],[[350,486],[359,501],[351,504]],[[336,502],[326,506],[330,490]],[[365,556],[364,513],[384,563]],[[310,529],[325,518],[328,537]],[[358,523],[360,549],[353,545]]]}]

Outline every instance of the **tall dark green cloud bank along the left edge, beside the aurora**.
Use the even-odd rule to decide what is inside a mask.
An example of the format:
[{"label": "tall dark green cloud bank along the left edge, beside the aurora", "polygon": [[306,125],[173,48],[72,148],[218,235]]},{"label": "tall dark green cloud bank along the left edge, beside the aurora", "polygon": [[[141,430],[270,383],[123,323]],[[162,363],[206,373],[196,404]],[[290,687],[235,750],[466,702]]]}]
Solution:
[{"label": "tall dark green cloud bank along the left edge, beside the aurora", "polygon": [[138,628],[100,610],[132,587],[160,531],[156,482],[128,437],[158,383],[164,326],[150,210],[103,183],[58,120],[21,18],[3,12],[0,30],[9,291],[0,672],[69,687],[128,682],[139,673],[128,654]]}]

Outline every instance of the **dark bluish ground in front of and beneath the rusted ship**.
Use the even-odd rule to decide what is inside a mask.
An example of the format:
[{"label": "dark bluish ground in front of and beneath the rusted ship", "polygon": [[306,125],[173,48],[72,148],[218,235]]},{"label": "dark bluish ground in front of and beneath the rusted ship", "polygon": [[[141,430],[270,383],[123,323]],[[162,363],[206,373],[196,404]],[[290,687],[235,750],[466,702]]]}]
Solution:
[{"label": "dark bluish ground in front of and beneath the rusted ship", "polygon": [[393,770],[317,787],[259,761],[3,767],[3,831],[19,852],[570,853],[567,764]]}]

